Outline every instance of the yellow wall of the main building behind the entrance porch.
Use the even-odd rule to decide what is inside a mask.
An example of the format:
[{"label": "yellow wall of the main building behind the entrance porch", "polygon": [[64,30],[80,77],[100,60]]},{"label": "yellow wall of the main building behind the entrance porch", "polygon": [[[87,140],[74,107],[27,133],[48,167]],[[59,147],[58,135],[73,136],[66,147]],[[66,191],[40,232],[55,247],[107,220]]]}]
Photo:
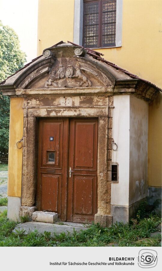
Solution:
[{"label": "yellow wall of the main building behind the entrance porch", "polygon": [[[123,0],[122,47],[98,51],[105,59],[162,88],[161,11],[161,0]],[[74,0],[39,0],[38,55],[61,40],[73,40],[73,14]],[[150,186],[161,186],[161,101],[162,93],[149,105]]]}]

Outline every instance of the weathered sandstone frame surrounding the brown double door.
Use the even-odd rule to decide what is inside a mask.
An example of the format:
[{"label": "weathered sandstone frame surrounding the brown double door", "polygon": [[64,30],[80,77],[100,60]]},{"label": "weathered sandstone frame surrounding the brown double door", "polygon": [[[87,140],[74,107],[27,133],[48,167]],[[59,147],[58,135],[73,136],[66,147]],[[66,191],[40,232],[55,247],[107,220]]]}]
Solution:
[{"label": "weathered sandstone frame surrounding the brown double door", "polygon": [[110,215],[111,182],[107,178],[108,105],[91,108],[24,107],[21,205],[35,204],[37,119],[41,117],[98,117],[98,215]]}]

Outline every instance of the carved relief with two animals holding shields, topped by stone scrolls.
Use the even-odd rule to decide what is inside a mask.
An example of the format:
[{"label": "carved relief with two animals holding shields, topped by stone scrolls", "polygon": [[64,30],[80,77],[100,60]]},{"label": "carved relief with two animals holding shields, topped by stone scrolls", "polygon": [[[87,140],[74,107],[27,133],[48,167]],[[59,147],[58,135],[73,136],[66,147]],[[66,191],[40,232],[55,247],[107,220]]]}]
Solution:
[{"label": "carved relief with two animals holding shields, topped by stone scrolls", "polygon": [[[111,86],[112,80],[97,69],[84,48],[63,44],[47,48],[43,56],[54,61],[48,74],[34,80],[28,88],[99,87]],[[100,68],[100,67],[99,67]],[[111,76],[110,76],[111,77]]]}]

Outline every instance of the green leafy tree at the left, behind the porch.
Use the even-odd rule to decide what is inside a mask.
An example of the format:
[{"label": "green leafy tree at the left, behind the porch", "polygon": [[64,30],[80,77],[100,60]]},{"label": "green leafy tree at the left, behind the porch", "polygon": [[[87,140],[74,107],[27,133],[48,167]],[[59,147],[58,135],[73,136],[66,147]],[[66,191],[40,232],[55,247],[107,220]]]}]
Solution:
[{"label": "green leafy tree at the left, behind the porch", "polygon": [[[19,38],[0,21],[0,82],[22,68],[26,54],[20,50]],[[10,99],[0,92],[0,156],[8,153]]]}]

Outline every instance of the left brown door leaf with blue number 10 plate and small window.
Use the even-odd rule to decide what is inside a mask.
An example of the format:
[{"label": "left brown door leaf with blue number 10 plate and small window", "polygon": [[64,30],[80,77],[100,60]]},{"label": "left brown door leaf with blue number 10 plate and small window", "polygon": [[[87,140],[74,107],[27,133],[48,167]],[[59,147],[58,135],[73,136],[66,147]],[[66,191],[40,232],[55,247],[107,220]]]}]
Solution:
[{"label": "left brown door leaf with blue number 10 plate and small window", "polygon": [[66,220],[68,118],[42,118],[39,122],[38,210],[57,212]]}]

